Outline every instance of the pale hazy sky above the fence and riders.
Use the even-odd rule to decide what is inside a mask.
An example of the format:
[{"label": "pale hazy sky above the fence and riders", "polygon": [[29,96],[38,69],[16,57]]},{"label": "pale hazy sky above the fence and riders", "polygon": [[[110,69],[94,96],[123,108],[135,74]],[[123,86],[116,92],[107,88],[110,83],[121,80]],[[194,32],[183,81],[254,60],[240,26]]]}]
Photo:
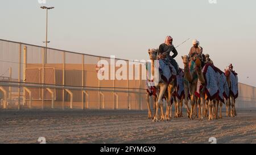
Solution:
[{"label": "pale hazy sky above the fence and riders", "polygon": [[[40,1],[40,0],[39,0]],[[196,38],[215,66],[232,63],[241,83],[256,86],[256,1],[246,0],[1,0],[0,38],[123,59],[149,59],[167,35],[182,68]],[[41,0],[43,1],[43,0]]]}]

